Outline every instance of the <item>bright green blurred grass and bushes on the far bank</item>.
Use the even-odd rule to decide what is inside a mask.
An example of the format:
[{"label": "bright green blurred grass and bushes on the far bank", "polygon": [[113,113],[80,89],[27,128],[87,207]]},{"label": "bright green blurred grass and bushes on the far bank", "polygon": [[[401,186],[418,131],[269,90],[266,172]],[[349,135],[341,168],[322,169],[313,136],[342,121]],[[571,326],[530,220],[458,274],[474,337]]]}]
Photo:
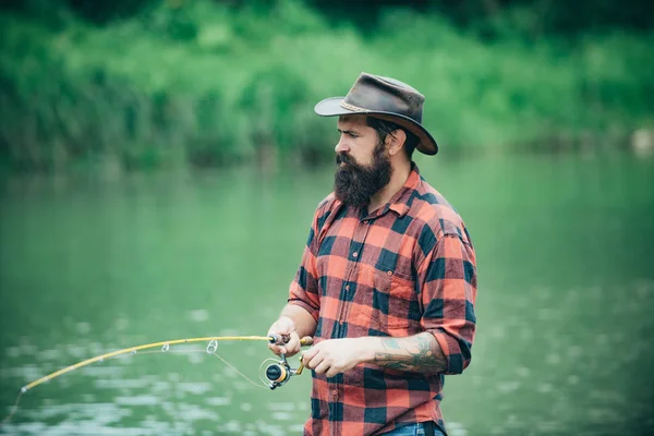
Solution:
[{"label": "bright green blurred grass and bushes on the far bank", "polygon": [[615,144],[654,113],[651,34],[484,41],[400,9],[363,36],[292,0],[152,2],[101,27],[57,16],[52,25],[0,13],[0,156],[10,168],[221,166],[271,150],[330,159],[335,123],[313,106],[344,95],[361,71],[425,94],[424,123],[443,153]]}]

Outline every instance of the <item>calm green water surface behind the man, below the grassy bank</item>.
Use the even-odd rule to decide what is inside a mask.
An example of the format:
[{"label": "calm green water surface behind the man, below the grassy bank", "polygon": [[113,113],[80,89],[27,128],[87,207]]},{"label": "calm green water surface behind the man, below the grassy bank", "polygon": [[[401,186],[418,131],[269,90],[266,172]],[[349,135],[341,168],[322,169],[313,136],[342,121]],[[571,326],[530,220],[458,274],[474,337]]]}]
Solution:
[{"label": "calm green water surface behind the man, below the grassy bank", "polygon": [[[450,433],[654,432],[654,161],[419,165],[464,217],[479,259],[472,365],[445,388]],[[265,335],[331,172],[5,181],[0,417],[21,386],[84,359],[161,340]],[[28,391],[0,433],[301,433],[308,376],[269,391],[205,347],[63,375]],[[221,342],[218,354],[254,379],[270,356],[259,342]]]}]

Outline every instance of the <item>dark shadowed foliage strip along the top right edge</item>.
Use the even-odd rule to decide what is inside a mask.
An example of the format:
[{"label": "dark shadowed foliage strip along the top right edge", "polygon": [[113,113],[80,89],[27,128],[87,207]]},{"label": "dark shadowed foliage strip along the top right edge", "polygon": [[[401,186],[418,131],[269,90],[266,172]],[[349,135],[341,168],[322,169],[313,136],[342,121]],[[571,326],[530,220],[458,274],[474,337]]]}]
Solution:
[{"label": "dark shadowed foliage strip along the top right edge", "polygon": [[474,27],[485,37],[510,33],[521,38],[578,35],[598,28],[646,31],[654,25],[654,3],[621,0],[305,0],[335,21],[349,20],[374,28],[390,5],[420,13],[438,13],[462,28]]}]

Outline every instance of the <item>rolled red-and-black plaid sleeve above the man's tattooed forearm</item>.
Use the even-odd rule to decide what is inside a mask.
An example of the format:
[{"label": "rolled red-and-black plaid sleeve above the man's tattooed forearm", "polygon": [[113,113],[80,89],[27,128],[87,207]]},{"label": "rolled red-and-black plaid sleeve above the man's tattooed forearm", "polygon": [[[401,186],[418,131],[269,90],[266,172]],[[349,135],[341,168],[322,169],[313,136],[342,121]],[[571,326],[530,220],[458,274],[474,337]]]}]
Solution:
[{"label": "rolled red-and-black plaid sleeve above the man's tattooed forearm", "polygon": [[443,235],[417,268],[417,278],[424,307],[421,325],[446,356],[445,374],[461,374],[470,364],[476,323],[474,249],[458,234]]}]

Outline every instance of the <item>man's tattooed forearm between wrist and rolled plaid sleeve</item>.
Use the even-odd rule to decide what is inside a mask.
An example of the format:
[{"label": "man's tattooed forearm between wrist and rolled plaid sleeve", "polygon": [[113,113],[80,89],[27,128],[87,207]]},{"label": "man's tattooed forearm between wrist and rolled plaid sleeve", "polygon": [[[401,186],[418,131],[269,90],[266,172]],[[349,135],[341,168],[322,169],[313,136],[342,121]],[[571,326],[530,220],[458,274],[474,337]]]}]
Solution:
[{"label": "man's tattooed forearm between wrist and rolled plaid sleeve", "polygon": [[375,353],[375,363],[389,370],[438,373],[447,361],[436,339],[428,332],[410,338],[382,339],[383,352]]}]

